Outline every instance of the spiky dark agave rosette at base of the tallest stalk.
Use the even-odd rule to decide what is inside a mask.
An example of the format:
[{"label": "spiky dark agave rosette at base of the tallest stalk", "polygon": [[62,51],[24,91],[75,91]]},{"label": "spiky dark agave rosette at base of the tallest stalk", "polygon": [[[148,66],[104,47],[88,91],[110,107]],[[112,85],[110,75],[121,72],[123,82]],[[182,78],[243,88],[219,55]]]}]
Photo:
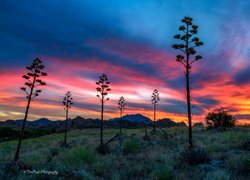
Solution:
[{"label": "spiky dark agave rosette at base of the tallest stalk", "polygon": [[181,163],[187,163],[190,165],[198,165],[201,163],[208,163],[210,157],[207,151],[199,147],[187,147],[181,153]]}]

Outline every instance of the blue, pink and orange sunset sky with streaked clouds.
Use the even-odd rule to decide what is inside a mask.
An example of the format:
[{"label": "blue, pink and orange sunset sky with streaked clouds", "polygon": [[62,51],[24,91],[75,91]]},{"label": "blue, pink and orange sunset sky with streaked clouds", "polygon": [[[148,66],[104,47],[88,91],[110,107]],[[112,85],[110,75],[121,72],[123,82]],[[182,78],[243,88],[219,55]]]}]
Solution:
[{"label": "blue, pink and orange sunset sky with streaked clouds", "polygon": [[191,74],[194,122],[215,109],[250,124],[250,1],[242,0],[3,0],[0,1],[0,121],[22,119],[25,66],[39,57],[47,86],[32,101],[29,119],[64,118],[63,95],[72,92],[70,117],[99,118],[96,84],[107,74],[112,91],[105,119],[125,114],[186,121],[184,69],[173,39],[184,16],[199,26],[203,59]]}]

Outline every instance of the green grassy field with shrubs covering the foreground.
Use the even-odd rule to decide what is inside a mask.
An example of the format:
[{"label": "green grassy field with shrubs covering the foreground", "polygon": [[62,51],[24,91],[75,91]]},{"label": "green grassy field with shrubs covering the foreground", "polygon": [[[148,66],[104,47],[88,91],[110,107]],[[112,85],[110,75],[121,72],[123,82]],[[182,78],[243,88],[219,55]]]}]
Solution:
[{"label": "green grassy field with shrubs covering the foreground", "polygon": [[[186,147],[187,128],[165,130],[173,137],[149,132],[151,140],[144,141],[144,129],[124,129],[122,150],[114,141],[105,156],[95,151],[99,144],[97,129],[70,131],[67,148],[60,147],[64,134],[26,139],[20,159],[31,169],[16,176],[6,174],[4,167],[13,159],[17,142],[2,142],[0,179],[250,179],[250,127],[223,132],[195,127],[194,144],[207,151],[211,159],[199,165],[189,165],[180,158]],[[105,140],[117,132],[105,130]]]}]

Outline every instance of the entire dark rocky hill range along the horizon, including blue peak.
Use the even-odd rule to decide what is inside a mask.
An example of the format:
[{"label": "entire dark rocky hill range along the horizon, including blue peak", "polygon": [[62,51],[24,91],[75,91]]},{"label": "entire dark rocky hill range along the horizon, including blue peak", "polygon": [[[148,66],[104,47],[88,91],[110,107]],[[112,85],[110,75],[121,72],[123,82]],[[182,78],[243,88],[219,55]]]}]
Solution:
[{"label": "entire dark rocky hill range along the horizon, including blue peak", "polygon": [[[104,121],[105,128],[118,128],[120,118],[113,118]],[[153,126],[151,124],[152,120],[141,114],[129,114],[122,117],[122,126],[124,128],[139,128],[144,127],[145,124]],[[1,126],[8,126],[13,128],[20,128],[22,126],[23,120],[7,120],[0,122]],[[41,129],[41,128],[55,128],[57,131],[62,131],[64,129],[64,120],[49,120],[47,118],[40,118],[34,121],[27,121],[27,129]],[[156,121],[159,127],[173,127],[173,126],[186,126],[184,122],[176,123],[169,118],[163,118]],[[74,119],[68,120],[68,125],[73,129],[84,129],[84,128],[99,128],[100,119],[91,119],[77,116]]]}]

